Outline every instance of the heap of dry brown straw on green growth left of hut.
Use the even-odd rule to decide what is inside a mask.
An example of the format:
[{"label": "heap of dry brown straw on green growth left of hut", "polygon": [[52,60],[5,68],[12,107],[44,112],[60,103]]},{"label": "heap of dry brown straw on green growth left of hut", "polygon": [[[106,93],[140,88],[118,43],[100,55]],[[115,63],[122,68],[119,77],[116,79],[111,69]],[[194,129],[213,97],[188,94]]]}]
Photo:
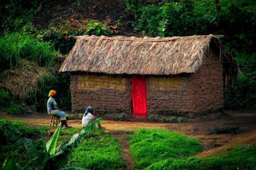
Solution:
[{"label": "heap of dry brown straw on green growth left of hut", "polygon": [[47,75],[46,69],[27,60],[21,60],[17,69],[3,73],[3,85],[10,90],[14,97],[28,98],[37,91],[38,81]]}]

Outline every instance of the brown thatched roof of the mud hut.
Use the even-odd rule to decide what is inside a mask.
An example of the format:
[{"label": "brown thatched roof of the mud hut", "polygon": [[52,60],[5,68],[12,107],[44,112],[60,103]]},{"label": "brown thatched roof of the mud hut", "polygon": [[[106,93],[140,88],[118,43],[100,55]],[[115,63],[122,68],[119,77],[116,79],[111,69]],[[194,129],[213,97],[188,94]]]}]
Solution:
[{"label": "brown thatched roof of the mud hut", "polygon": [[219,56],[224,60],[218,61],[235,64],[219,42],[220,37],[77,36],[76,45],[60,67],[60,72],[139,75],[194,73],[204,64],[210,44],[215,44],[221,52]]}]

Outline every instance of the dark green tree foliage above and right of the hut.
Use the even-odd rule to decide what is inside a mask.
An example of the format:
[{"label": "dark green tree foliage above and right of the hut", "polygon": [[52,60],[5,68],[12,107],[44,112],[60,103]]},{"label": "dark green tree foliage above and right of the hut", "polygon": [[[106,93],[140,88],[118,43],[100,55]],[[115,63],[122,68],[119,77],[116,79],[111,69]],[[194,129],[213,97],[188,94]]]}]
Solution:
[{"label": "dark green tree foliage above and right of the hut", "polygon": [[233,109],[254,108],[256,3],[251,0],[215,2],[180,0],[143,4],[140,0],[126,0],[126,5],[135,18],[134,30],[144,35],[224,35],[222,42],[235,56],[242,72],[238,81],[224,90],[224,104]]}]

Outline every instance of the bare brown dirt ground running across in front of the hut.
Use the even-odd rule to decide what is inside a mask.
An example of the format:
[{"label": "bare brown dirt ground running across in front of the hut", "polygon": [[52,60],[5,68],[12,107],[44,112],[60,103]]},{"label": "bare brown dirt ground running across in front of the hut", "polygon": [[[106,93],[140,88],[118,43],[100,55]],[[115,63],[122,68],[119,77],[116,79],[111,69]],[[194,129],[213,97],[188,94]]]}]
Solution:
[{"label": "bare brown dirt ground running across in front of the hut", "polygon": [[[256,143],[254,140],[256,137],[256,113],[228,112],[228,114],[230,115],[229,117],[222,117],[219,120],[185,123],[103,120],[102,126],[112,133],[119,131],[129,132],[140,128],[158,128],[177,131],[199,139],[204,151],[199,154],[199,156],[207,157],[208,155],[219,154],[219,152],[224,151],[227,147],[232,147],[235,144]],[[27,117],[10,117],[0,112],[0,116],[15,120],[23,120],[34,124],[49,124],[49,115],[47,114],[30,115]],[[79,127],[81,121],[69,120],[69,124],[74,127]],[[125,142],[122,138],[123,137],[120,137],[119,140]],[[126,148],[124,148],[124,151],[125,149]]]}]

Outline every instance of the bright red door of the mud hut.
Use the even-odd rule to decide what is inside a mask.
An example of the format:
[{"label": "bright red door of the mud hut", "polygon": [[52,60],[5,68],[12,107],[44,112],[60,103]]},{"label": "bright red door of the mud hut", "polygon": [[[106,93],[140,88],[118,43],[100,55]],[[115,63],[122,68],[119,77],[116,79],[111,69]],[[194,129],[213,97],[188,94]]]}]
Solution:
[{"label": "bright red door of the mud hut", "polygon": [[132,77],[133,117],[147,117],[146,79]]}]

